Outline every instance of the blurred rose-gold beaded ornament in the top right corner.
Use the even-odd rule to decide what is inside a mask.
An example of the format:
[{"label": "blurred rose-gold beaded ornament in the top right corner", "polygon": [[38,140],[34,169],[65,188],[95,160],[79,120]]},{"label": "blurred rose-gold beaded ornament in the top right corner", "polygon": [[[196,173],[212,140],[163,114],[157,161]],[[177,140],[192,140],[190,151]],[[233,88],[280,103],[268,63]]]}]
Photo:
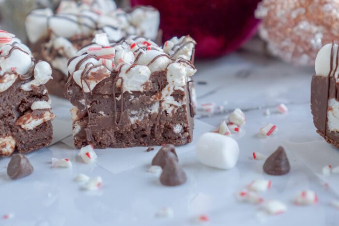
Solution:
[{"label": "blurred rose-gold beaded ornament in the top right corner", "polygon": [[255,16],[272,54],[312,65],[319,49],[339,41],[339,0],[262,0]]}]

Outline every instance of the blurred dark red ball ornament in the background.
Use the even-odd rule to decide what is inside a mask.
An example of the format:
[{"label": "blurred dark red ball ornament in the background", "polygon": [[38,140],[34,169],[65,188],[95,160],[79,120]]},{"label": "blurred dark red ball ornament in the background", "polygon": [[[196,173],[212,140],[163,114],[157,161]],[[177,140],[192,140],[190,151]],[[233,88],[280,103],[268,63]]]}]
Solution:
[{"label": "blurred dark red ball ornament in the background", "polygon": [[236,50],[255,33],[254,10],[260,0],[131,0],[160,11],[163,41],[191,35],[196,57],[217,57]]}]

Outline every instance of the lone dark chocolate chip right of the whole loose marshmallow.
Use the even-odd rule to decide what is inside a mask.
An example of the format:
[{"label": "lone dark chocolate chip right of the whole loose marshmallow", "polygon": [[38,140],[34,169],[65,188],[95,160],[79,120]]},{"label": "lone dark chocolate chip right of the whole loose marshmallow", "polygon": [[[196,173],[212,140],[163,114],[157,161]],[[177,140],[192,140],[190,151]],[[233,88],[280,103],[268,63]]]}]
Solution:
[{"label": "lone dark chocolate chip right of the whole loose marshmallow", "polygon": [[263,171],[270,175],[284,175],[290,172],[291,166],[283,147],[273,152],[262,166]]}]

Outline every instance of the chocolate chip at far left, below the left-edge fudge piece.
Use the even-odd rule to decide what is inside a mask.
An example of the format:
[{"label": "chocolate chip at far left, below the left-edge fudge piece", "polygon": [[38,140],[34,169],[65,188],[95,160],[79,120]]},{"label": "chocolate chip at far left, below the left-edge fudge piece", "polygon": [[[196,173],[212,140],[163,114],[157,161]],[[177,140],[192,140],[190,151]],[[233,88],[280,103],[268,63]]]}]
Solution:
[{"label": "chocolate chip at far left, below the left-edge fudge piece", "polygon": [[12,180],[27,177],[33,172],[33,166],[23,154],[14,154],[7,166],[7,174]]}]

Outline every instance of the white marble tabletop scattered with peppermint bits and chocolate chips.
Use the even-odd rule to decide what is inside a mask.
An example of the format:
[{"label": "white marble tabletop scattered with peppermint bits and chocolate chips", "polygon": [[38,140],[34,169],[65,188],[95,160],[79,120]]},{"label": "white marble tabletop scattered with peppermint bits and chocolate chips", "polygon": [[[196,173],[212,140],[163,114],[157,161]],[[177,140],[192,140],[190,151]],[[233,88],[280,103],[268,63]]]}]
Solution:
[{"label": "white marble tabletop scattered with peppermint bits and chocolate chips", "polygon": [[[48,149],[31,153],[34,174],[19,181],[11,181],[6,175],[9,159],[0,160],[0,216],[14,214],[11,219],[0,219],[0,225],[338,225],[339,210],[329,202],[339,199],[339,175],[325,177],[321,169],[327,164],[339,166],[339,151],[325,143],[312,124],[309,94],[313,69],[296,68],[241,52],[217,60],[198,61],[196,65],[198,103],[214,102],[224,107],[223,112],[213,116],[198,112],[201,121],[212,125],[200,123],[202,130],[207,132],[217,126],[236,107],[246,114],[243,132],[233,136],[240,146],[235,168],[224,171],[203,166],[195,156],[194,145],[181,147],[179,160],[188,180],[182,186],[168,188],[147,172],[155,151],[96,150],[101,160],[85,165],[71,147],[70,138],[66,138]],[[280,103],[287,105],[288,114],[275,112]],[[53,98],[52,104],[59,119],[70,120],[67,102]],[[270,108],[270,116],[264,116],[266,108]],[[258,137],[258,130],[267,123],[276,124],[278,132],[269,138]],[[67,131],[69,128],[64,133]],[[262,172],[263,161],[250,160],[251,153],[269,155],[279,145],[287,151],[291,172],[278,177],[266,175]],[[51,168],[52,157],[69,158],[73,168]],[[103,186],[98,191],[82,191],[73,181],[80,172],[101,176]],[[282,201],[288,207],[285,213],[262,216],[261,205],[235,199],[236,191],[261,178],[272,181],[272,188],[262,193],[264,200]],[[293,197],[305,189],[317,193],[318,204],[293,204]],[[155,217],[163,207],[172,208],[174,216]],[[200,214],[206,214],[210,221],[195,223]]]}]

